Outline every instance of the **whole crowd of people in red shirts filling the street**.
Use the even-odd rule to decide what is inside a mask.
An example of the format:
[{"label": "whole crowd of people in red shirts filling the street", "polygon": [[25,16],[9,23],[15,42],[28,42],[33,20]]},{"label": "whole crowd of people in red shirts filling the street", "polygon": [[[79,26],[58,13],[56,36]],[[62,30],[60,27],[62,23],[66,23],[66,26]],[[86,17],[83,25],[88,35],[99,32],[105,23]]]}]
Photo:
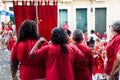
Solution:
[{"label": "whole crowd of people in red shirts filling the street", "polygon": [[18,37],[7,28],[2,27],[1,39],[9,36],[4,40],[11,51],[12,80],[18,80],[18,70],[20,80],[120,80],[119,20],[110,25],[110,41],[106,32],[72,33],[67,22],[52,30],[50,41],[37,33],[32,20],[21,23]]}]

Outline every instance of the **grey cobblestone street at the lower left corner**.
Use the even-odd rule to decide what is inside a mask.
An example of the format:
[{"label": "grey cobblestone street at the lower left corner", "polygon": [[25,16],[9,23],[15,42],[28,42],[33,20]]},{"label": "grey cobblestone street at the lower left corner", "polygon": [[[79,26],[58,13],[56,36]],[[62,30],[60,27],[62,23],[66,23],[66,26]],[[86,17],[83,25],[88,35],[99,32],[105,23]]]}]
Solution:
[{"label": "grey cobblestone street at the lower left corner", "polygon": [[9,52],[0,49],[0,80],[11,80]]}]

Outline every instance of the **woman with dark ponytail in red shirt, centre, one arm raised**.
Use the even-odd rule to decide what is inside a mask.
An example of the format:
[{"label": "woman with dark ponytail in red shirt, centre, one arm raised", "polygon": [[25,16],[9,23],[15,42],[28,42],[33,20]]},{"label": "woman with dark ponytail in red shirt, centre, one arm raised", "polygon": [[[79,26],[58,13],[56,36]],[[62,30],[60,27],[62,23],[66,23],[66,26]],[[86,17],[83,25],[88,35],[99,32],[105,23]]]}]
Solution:
[{"label": "woman with dark ponytail in red shirt, centre, one arm raised", "polygon": [[[42,39],[32,48],[31,57],[45,58],[46,80],[74,80],[73,62],[82,61],[84,54],[76,47],[67,44],[67,33],[62,28],[52,31],[52,44],[37,49]],[[37,49],[37,50],[35,50]]]}]

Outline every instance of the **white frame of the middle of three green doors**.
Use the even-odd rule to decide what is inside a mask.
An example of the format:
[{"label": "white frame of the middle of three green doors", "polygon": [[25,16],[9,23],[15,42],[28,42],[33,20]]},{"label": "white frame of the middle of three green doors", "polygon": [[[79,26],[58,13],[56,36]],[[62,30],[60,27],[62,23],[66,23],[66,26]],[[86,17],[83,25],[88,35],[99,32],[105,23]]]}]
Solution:
[{"label": "white frame of the middle of three green doors", "polygon": [[90,8],[89,6],[75,6],[74,7],[74,29],[76,29],[76,9],[87,9],[87,31],[88,31],[88,26],[89,26],[89,13],[90,13]]}]

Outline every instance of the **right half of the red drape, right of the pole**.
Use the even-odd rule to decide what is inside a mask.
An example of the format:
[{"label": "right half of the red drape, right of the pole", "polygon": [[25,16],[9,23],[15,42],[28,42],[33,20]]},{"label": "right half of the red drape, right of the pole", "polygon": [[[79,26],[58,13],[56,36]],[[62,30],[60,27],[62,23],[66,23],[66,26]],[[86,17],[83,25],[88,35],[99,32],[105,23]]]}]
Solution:
[{"label": "right half of the red drape, right of the pole", "polygon": [[57,27],[57,6],[38,6],[39,33],[47,40],[51,38],[51,31]]}]

